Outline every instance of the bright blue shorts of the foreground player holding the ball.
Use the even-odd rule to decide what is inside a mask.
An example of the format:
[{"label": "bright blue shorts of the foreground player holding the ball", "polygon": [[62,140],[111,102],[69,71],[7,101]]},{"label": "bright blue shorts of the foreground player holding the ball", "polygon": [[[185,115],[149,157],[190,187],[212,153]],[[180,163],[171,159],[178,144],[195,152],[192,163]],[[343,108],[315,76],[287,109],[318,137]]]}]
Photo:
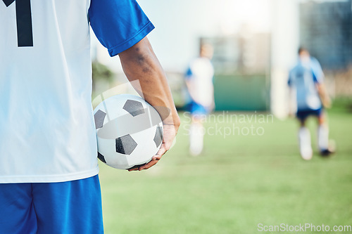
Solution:
[{"label": "bright blue shorts of the foreground player holding the ball", "polygon": [[0,183],[0,233],[103,233],[98,175],[60,183]]}]

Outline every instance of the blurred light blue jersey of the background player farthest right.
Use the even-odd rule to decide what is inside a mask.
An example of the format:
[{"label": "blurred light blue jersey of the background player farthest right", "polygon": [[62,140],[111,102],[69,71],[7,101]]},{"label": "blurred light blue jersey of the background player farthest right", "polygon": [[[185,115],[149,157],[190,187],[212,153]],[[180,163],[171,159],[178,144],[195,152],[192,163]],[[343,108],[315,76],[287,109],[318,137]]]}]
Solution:
[{"label": "blurred light blue jersey of the background player farthest right", "polygon": [[315,58],[298,60],[296,67],[289,72],[288,84],[296,91],[298,112],[322,108],[316,84],[321,83],[323,77],[322,68]]}]

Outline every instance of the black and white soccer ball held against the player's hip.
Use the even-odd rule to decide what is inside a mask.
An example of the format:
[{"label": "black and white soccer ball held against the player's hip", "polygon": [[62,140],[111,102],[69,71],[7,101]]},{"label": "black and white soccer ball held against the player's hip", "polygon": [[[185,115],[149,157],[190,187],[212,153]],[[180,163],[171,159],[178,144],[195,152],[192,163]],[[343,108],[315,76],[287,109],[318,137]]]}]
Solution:
[{"label": "black and white soccer ball held against the player's hip", "polygon": [[144,99],[120,94],[94,109],[98,158],[110,167],[130,169],[148,163],[163,142],[163,122]]}]

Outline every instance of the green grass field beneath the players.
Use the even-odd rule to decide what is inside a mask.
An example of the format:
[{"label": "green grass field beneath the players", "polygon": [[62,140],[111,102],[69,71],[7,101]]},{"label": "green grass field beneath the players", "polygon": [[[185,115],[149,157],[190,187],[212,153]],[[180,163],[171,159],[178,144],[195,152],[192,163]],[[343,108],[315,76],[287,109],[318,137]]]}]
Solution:
[{"label": "green grass field beneath the players", "polygon": [[[315,150],[309,162],[298,154],[294,119],[208,122],[208,128],[218,129],[235,124],[244,134],[253,124],[260,135],[264,132],[243,136],[236,130],[226,138],[220,131],[207,135],[203,155],[191,157],[189,122],[180,115],[177,143],[156,167],[127,172],[101,164],[107,234],[272,233],[258,231],[258,223],[352,226],[351,112],[343,108],[329,112],[330,138],[337,143],[337,154],[322,158]],[[316,149],[315,119],[308,124]]]}]

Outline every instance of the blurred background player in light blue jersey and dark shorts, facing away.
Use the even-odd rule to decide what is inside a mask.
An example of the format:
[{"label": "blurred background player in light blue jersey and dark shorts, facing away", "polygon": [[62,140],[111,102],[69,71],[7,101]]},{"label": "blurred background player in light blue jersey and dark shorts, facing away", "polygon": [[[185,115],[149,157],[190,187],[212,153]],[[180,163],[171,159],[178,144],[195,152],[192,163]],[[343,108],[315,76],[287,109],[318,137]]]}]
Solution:
[{"label": "blurred background player in light blue jersey and dark shorts, facing away", "polygon": [[297,112],[301,127],[298,131],[298,141],[301,156],[310,160],[313,150],[310,141],[310,131],[306,127],[308,116],[318,118],[318,147],[323,156],[330,155],[329,128],[324,108],[330,107],[330,98],[323,83],[324,74],[320,63],[311,57],[306,48],[298,49],[298,63],[289,72],[289,87],[291,96],[296,96]]}]

